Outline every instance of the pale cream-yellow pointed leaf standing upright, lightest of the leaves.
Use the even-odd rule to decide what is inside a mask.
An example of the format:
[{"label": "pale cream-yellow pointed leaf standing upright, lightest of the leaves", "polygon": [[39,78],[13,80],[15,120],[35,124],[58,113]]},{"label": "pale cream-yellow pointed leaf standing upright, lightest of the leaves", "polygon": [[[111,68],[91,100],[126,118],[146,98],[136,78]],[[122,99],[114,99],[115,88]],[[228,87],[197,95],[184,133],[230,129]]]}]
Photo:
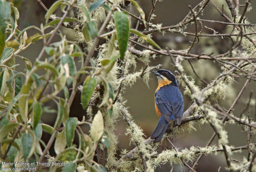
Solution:
[{"label": "pale cream-yellow pointed leaf standing upright, lightest of the leaves", "polygon": [[99,110],[92,120],[92,125],[90,130],[92,140],[94,142],[99,141],[103,132],[104,132],[104,123],[103,123],[102,114]]}]

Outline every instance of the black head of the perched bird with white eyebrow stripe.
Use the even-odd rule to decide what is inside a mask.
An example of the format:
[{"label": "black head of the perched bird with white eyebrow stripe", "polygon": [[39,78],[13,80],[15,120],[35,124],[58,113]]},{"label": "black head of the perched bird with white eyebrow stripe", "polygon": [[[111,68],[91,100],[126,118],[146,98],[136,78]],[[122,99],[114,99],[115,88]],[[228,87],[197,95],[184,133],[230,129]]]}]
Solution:
[{"label": "black head of the perched bird with white eyebrow stripe", "polygon": [[171,81],[172,85],[178,87],[175,76],[169,70],[160,69],[158,71],[153,71],[152,73],[156,75],[158,82],[166,82],[168,80]]}]

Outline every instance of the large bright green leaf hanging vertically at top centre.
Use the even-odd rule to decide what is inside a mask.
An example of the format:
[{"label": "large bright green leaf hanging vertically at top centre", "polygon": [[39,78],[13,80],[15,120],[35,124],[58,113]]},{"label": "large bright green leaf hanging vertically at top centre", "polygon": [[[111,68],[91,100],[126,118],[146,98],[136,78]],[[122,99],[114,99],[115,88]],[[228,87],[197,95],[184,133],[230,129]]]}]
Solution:
[{"label": "large bright green leaf hanging vertically at top centre", "polygon": [[127,48],[129,38],[129,19],[124,11],[115,12],[115,24],[117,31],[118,48],[121,60],[124,60],[124,54]]}]

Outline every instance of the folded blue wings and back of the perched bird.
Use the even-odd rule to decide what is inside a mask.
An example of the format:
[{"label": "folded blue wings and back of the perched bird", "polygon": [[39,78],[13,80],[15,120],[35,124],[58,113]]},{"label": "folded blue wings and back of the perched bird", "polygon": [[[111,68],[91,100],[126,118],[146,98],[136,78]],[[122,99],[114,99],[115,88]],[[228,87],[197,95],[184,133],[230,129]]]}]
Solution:
[{"label": "folded blue wings and back of the perched bird", "polygon": [[178,87],[173,85],[161,87],[156,92],[155,101],[157,108],[167,122],[177,119],[177,123],[180,124],[184,105],[183,97]]}]

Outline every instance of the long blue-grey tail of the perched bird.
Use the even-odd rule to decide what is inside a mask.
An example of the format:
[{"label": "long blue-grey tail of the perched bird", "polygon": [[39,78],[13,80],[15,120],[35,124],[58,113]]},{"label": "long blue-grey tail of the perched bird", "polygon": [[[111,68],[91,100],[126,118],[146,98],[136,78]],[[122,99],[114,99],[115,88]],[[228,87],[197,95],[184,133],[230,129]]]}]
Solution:
[{"label": "long blue-grey tail of the perched bird", "polygon": [[156,141],[160,141],[168,127],[169,122],[167,122],[164,117],[161,115],[155,130],[151,135],[151,139],[156,139]]}]

